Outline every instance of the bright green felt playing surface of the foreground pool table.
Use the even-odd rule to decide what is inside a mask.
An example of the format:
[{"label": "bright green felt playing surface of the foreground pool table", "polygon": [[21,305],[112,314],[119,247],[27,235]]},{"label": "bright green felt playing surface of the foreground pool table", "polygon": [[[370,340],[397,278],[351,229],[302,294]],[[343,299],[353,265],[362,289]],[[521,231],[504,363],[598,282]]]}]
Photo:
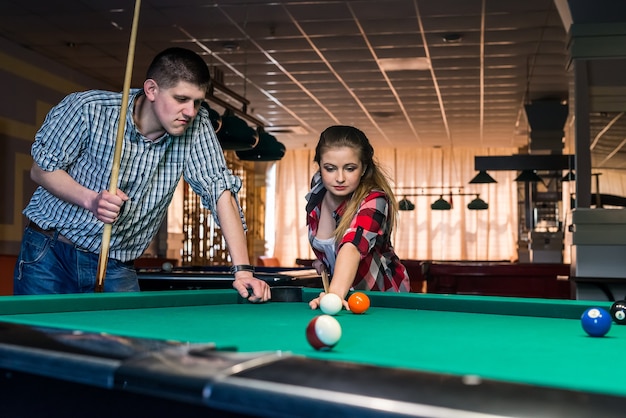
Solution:
[{"label": "bright green felt playing surface of the foreground pool table", "polygon": [[[305,290],[305,300],[318,292]],[[0,320],[626,396],[618,383],[626,326],[592,338],[580,325],[586,307],[606,302],[370,295],[365,314],[336,316],[343,336],[328,352],[305,338],[319,311],[304,302],[237,303],[230,290],[0,298]]]}]

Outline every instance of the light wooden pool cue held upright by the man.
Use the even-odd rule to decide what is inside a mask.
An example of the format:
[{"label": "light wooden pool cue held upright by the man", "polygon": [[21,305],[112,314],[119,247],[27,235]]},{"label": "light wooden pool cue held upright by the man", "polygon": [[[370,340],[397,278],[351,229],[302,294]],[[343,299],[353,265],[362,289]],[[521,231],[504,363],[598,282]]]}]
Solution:
[{"label": "light wooden pool cue held upright by the man", "polygon": [[[117,125],[117,137],[115,139],[115,154],[113,154],[113,166],[111,168],[111,180],[109,181],[109,193],[117,193],[117,180],[120,172],[120,159],[122,156],[122,144],[124,142],[124,128],[126,126],[126,114],[128,113],[128,97],[130,96],[130,79],[133,75],[133,62],[135,60],[135,42],[137,40],[137,24],[139,22],[139,9],[141,0],[135,0],[133,14],[133,26],[130,31],[128,44],[128,57],[126,60],[126,74],[124,75],[124,89],[122,91],[122,107],[120,108],[120,120]],[[109,260],[109,245],[111,243],[112,224],[104,224],[102,231],[102,246],[98,259],[98,272],[96,276],[95,291],[104,291],[104,276],[106,275],[107,262]]]}]

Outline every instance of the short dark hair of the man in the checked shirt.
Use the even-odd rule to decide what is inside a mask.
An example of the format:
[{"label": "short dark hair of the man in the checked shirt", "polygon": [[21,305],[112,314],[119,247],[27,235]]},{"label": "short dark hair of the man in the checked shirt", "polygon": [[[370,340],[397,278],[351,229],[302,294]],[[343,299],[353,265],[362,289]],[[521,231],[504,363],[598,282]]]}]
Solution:
[{"label": "short dark hair of the man in the checked shirt", "polygon": [[185,81],[207,89],[211,74],[200,55],[189,49],[174,47],[154,57],[146,78],[153,79],[162,88],[170,88]]}]

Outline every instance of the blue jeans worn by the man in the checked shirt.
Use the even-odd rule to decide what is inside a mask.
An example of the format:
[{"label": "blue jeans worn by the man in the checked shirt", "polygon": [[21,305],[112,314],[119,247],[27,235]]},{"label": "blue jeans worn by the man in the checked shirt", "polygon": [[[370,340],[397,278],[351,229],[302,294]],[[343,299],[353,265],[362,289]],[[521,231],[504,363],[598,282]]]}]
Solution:
[{"label": "blue jeans worn by the man in the checked shirt", "polygon": [[[94,292],[99,254],[83,250],[29,227],[24,231],[20,255],[13,275],[14,295]],[[132,263],[109,258],[104,279],[105,292],[139,290]]]}]

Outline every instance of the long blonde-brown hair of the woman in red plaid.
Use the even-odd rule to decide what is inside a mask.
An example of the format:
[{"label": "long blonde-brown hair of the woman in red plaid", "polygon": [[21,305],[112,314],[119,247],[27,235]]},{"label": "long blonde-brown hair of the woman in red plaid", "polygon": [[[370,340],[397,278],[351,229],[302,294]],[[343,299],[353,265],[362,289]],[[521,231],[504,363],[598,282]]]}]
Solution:
[{"label": "long blonde-brown hair of the woman in red plaid", "polygon": [[346,206],[346,211],[341,217],[339,225],[335,230],[335,239],[340,240],[346,233],[352,219],[356,215],[361,201],[372,190],[382,190],[389,200],[389,220],[390,231],[393,229],[396,221],[396,212],[398,210],[398,202],[393,194],[390,181],[383,170],[378,166],[374,159],[374,148],[370,144],[367,136],[359,129],[353,126],[331,126],[326,128],[320,135],[320,140],[315,147],[314,161],[320,166],[321,156],[331,148],[349,147],[354,149],[361,160],[364,167],[363,176],[354,193],[350,197],[350,201]]}]

